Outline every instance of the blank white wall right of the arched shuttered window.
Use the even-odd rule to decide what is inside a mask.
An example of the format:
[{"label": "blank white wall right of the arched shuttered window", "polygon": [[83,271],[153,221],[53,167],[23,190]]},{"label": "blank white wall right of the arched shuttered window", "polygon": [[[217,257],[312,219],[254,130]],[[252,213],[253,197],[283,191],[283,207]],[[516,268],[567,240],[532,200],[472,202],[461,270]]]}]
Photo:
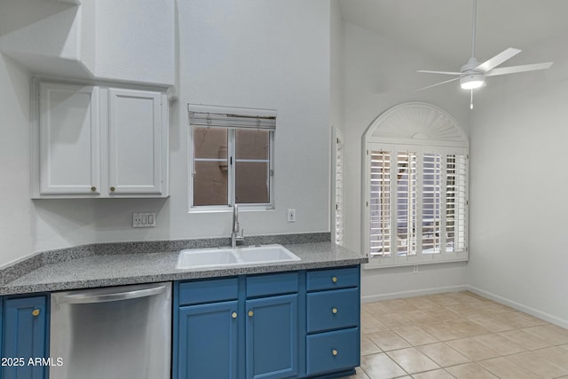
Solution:
[{"label": "blank white wall right of the arched shuttered window", "polygon": [[568,328],[568,53],[525,49],[548,71],[490,78],[470,143],[468,283]]}]

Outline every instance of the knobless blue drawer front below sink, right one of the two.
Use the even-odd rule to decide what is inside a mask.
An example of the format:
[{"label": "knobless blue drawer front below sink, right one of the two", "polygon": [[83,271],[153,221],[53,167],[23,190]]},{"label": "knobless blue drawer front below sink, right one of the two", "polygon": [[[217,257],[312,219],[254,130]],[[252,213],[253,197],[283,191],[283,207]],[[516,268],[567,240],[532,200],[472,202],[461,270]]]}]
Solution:
[{"label": "knobless blue drawer front below sink, right one of the two", "polygon": [[298,291],[298,272],[247,277],[247,297],[291,294]]}]

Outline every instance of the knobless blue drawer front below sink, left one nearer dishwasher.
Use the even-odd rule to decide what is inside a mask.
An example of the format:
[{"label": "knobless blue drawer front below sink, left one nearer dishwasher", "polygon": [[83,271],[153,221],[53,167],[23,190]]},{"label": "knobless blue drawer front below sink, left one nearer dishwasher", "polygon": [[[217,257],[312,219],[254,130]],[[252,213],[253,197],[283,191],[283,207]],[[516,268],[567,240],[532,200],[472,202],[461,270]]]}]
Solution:
[{"label": "knobless blue drawer front below sink, left one nearer dishwasher", "polygon": [[239,281],[237,278],[179,283],[179,305],[236,300],[238,297]]}]

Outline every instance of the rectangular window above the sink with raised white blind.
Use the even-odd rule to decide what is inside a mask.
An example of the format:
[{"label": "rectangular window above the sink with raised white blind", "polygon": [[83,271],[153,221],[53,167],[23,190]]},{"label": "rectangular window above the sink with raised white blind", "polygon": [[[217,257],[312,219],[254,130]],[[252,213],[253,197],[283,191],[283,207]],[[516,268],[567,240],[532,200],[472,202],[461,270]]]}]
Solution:
[{"label": "rectangular window above the sink with raised white blind", "polygon": [[189,105],[193,210],[273,207],[274,111]]}]

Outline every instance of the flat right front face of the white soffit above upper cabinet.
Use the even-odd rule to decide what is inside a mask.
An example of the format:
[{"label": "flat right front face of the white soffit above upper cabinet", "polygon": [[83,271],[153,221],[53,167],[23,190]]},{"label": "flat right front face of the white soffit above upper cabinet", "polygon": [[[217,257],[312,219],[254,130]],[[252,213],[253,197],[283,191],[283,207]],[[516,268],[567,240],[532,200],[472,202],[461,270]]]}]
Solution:
[{"label": "flat right front face of the white soffit above upper cabinet", "polygon": [[95,10],[98,78],[175,83],[174,0],[89,1]]}]

